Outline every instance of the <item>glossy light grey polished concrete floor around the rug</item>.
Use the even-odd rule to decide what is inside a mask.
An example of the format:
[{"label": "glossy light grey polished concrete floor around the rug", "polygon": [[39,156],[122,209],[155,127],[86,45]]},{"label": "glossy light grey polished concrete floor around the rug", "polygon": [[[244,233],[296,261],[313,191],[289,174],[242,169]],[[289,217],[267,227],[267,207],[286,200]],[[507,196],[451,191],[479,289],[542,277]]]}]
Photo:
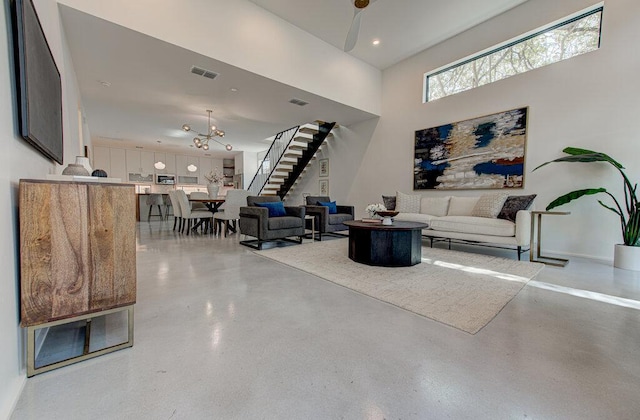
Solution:
[{"label": "glossy light grey polished concrete floor around the rug", "polygon": [[638,273],[546,267],[469,335],[237,241],[141,223],[134,346],[28,379],[12,418],[640,418]]}]

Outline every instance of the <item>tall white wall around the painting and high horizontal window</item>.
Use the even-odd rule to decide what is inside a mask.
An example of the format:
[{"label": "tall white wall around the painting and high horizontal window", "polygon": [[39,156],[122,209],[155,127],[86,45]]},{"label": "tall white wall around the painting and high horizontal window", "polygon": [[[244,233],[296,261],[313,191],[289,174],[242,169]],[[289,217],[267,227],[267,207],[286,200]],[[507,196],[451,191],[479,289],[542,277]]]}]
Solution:
[{"label": "tall white wall around the painting and high horizontal window", "polygon": [[[561,156],[566,146],[595,149],[617,158],[632,180],[640,178],[640,2],[607,0],[602,47],[551,66],[428,104],[422,103],[423,74],[474,52],[565,17],[593,0],[529,0],[484,24],[424,51],[383,73],[382,118],[367,149],[348,199],[362,208],[380,194],[413,188],[415,130],[466,120],[522,106],[529,107],[526,179],[523,190],[537,193],[543,209],[574,189],[610,188],[621,179],[605,164],[555,164],[535,173],[540,163]],[[366,133],[365,133],[366,135]],[[339,157],[338,157],[339,158]],[[340,158],[339,158],[340,159]],[[341,163],[350,165],[350,158]],[[459,195],[481,192],[460,191]],[[421,191],[424,195],[449,195]],[[600,197],[606,199],[606,196]],[[561,207],[571,216],[545,219],[545,250],[600,259],[613,258],[621,242],[618,219],[591,197]]]}]

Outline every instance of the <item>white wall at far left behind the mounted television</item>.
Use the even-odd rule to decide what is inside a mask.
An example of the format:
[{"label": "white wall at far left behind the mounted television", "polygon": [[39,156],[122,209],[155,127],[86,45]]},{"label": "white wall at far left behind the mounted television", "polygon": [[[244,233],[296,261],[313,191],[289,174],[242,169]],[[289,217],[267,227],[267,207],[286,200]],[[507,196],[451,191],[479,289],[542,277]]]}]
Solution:
[{"label": "white wall at far left behind the mounted television", "polygon": [[[44,178],[47,173],[59,173],[63,166],[52,163],[18,134],[16,89],[13,76],[13,52],[9,2],[0,10],[5,22],[0,33],[0,206],[4,223],[0,224],[0,418],[7,418],[25,380],[25,335],[19,327],[19,252],[18,252],[18,181],[21,178]],[[64,75],[63,130],[64,161],[73,162],[81,154],[78,142],[78,88],[68,60],[69,53],[60,32],[60,20],[54,0],[35,0],[36,9],[47,35],[60,73]]]}]

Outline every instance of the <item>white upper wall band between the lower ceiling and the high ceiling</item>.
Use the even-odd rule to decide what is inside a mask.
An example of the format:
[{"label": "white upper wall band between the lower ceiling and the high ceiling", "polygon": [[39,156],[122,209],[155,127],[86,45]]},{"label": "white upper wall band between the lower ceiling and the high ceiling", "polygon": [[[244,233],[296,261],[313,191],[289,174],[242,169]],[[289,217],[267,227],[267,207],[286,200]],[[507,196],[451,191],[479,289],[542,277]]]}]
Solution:
[{"label": "white upper wall band between the lower ceiling and the high ceiling", "polygon": [[380,114],[380,70],[248,0],[60,3],[278,82]]}]

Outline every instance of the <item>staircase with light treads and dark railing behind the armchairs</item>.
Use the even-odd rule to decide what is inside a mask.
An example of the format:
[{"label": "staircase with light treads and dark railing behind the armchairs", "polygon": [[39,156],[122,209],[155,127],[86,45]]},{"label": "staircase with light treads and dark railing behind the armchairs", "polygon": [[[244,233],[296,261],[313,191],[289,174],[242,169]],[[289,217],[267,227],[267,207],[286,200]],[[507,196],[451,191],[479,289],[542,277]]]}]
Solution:
[{"label": "staircase with light treads and dark railing behind the armchairs", "polygon": [[305,172],[336,123],[318,122],[292,127],[275,135],[271,147],[253,177],[252,195],[278,196],[284,200]]}]

